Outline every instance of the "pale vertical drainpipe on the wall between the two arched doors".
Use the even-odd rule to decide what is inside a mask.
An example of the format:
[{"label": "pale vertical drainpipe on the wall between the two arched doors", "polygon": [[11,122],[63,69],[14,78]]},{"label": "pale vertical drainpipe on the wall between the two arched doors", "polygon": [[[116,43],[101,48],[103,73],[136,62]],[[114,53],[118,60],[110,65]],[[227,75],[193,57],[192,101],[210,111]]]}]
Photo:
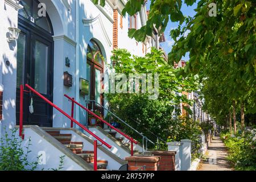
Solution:
[{"label": "pale vertical drainpipe on the wall between the two arched doors", "polygon": [[[79,96],[79,0],[75,1],[76,2],[76,67],[75,67],[75,98],[76,101],[80,100]],[[75,107],[75,118],[77,121],[79,121],[79,106],[76,105]]]}]

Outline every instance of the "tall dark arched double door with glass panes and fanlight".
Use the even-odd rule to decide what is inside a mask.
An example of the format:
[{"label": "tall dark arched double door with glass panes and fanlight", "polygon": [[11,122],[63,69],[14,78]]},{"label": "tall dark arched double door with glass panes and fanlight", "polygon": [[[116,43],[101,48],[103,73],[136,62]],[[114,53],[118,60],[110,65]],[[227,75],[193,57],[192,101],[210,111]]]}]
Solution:
[{"label": "tall dark arched double door with glass panes and fanlight", "polygon": [[[39,1],[22,0],[17,43],[16,121],[19,121],[19,85],[29,84],[48,100],[53,98],[53,28],[48,14],[39,16]],[[34,113],[29,111],[33,100]],[[52,108],[41,98],[24,93],[24,125],[52,126]]]}]

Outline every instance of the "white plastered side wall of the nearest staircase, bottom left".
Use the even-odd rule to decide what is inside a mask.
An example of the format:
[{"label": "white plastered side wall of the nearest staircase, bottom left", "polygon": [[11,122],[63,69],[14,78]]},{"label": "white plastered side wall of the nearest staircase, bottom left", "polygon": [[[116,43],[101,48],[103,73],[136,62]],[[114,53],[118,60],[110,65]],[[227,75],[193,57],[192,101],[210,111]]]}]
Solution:
[{"label": "white plastered side wall of the nearest staircase, bottom left", "polygon": [[[30,128],[24,129],[24,136],[24,151],[26,151],[26,147],[28,145],[28,138],[31,138],[31,152],[28,155],[29,162],[35,162],[37,160],[36,158],[40,154],[43,154],[42,158],[40,158],[42,159],[43,164],[39,164],[36,170],[40,171],[42,170],[42,168],[44,168],[44,170],[51,168],[55,169],[59,166],[59,158],[60,156],[64,156],[63,152],[52,146],[51,143],[49,143],[47,140],[42,138],[40,135],[35,133],[35,131],[31,130]],[[65,156],[64,166],[63,169],[61,169],[61,171],[84,171],[84,168],[79,166],[79,164],[75,163],[72,159],[68,158],[68,156]]]}]

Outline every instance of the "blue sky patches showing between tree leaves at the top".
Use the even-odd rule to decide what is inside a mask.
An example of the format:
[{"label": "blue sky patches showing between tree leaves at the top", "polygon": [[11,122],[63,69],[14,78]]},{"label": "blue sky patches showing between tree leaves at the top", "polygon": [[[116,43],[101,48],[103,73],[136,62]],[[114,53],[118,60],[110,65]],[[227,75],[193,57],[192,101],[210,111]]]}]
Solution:
[{"label": "blue sky patches showing between tree leaves at the top", "polygon": [[[150,9],[150,2],[148,1],[146,4],[147,10]],[[181,12],[184,14],[184,16],[193,16],[196,14],[196,12],[194,11],[194,9],[196,9],[197,3],[195,3],[193,6],[187,6],[183,3],[182,7],[181,7]],[[164,43],[160,43],[160,46],[164,49],[164,51],[166,51],[166,53],[168,54],[171,49],[172,49],[172,45],[174,44],[174,40],[172,40],[171,36],[170,36],[170,31],[174,28],[177,28],[177,26],[179,25],[179,23],[177,22],[170,22],[168,23],[167,27],[166,27],[166,31],[164,31],[164,36],[166,38],[166,42]],[[183,57],[183,60],[189,60],[189,55],[187,53],[187,55],[185,57]]]}]

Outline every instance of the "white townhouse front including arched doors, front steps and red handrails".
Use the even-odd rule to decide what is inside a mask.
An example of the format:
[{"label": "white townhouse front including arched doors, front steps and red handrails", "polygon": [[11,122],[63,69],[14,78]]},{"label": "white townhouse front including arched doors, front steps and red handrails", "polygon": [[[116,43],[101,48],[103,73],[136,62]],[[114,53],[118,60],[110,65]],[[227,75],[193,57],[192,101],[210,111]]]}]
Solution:
[{"label": "white townhouse front including arched doors, front steps and red handrails", "polygon": [[[0,137],[18,127],[24,144],[31,138],[30,162],[41,156],[39,170],[55,168],[60,156],[64,170],[125,170],[125,157],[144,151],[126,134],[88,126],[89,111],[77,105],[102,117],[101,73],[110,72],[113,49],[143,56],[163,41],[155,35],[143,43],[128,37],[129,28],[146,24],[147,11],[143,5],[134,16],[122,16],[126,2],[106,0],[101,7],[91,0],[0,0]],[[77,121],[74,127],[71,121]]]}]

